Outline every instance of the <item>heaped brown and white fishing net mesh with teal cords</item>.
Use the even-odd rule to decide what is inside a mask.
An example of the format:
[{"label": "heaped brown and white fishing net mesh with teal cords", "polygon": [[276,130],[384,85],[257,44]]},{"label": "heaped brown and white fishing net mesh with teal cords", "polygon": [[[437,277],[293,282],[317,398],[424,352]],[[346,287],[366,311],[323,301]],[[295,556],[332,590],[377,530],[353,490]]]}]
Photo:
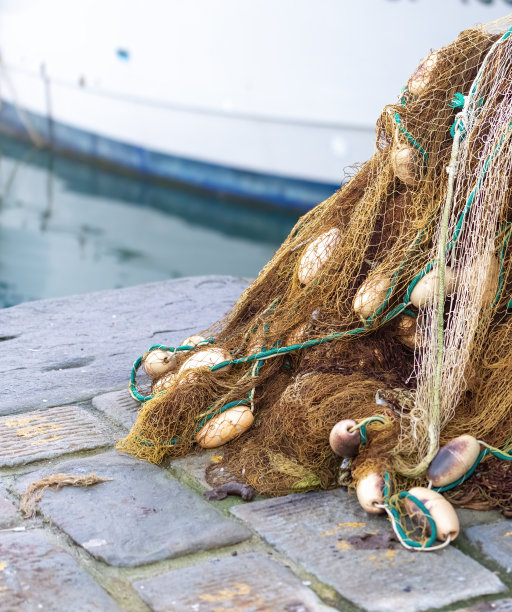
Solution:
[{"label": "heaped brown and white fishing net mesh with teal cords", "polygon": [[[252,427],[223,447],[208,478],[229,474],[276,495],[339,486],[329,432],[341,419],[386,416],[352,461],[352,485],[372,471],[389,473],[397,489],[424,485],[433,453],[466,433],[508,448],[511,25],[465,30],[420,64],[382,111],[373,157],[298,220],[233,311],[205,333],[230,363],[180,369],[211,347],[175,353],[179,373],[163,391],[153,384],[120,450],[160,463],[192,452],[198,431],[226,407],[250,410]],[[510,513],[512,472],[490,457],[450,495]]]}]

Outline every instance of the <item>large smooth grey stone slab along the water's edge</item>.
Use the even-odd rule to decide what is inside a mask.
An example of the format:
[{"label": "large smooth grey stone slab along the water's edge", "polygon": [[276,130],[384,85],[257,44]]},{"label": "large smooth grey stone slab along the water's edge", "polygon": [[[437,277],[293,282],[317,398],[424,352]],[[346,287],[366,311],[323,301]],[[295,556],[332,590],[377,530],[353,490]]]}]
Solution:
[{"label": "large smooth grey stone slab along the water's edge", "polygon": [[152,344],[180,344],[231,308],[248,282],[203,276],[26,302],[0,310],[0,414],[126,387]]}]

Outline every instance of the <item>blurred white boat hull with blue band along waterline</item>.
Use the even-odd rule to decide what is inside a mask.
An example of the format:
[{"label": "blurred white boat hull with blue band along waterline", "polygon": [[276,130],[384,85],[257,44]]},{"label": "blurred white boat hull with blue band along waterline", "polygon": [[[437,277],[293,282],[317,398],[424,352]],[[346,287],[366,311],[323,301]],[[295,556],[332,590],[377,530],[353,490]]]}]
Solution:
[{"label": "blurred white boat hull with blue band along waterline", "polygon": [[[419,61],[510,0],[0,0],[0,130],[306,210]],[[348,169],[348,170],[347,170]]]}]

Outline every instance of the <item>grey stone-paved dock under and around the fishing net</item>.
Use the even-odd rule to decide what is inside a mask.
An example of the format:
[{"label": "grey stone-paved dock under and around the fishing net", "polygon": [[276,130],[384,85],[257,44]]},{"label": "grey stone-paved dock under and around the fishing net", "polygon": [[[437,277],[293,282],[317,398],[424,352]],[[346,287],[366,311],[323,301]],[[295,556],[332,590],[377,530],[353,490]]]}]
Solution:
[{"label": "grey stone-paved dock under and around the fishing net", "polygon": [[[214,453],[162,467],[114,449],[137,356],[229,310],[242,279],[198,277],[0,311],[0,611],[512,611],[512,522],[461,511],[439,552],[351,542],[389,530],[328,492],[208,502]],[[56,473],[109,479],[20,499]]]}]

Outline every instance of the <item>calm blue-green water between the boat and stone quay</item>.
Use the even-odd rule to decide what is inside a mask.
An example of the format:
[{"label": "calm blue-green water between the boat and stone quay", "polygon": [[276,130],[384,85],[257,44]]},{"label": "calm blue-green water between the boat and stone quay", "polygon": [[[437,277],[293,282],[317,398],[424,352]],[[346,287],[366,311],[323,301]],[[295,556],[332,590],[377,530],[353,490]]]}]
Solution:
[{"label": "calm blue-green water between the boat and stone quay", "polygon": [[254,277],[297,217],[0,136],[0,307],[197,274]]}]

